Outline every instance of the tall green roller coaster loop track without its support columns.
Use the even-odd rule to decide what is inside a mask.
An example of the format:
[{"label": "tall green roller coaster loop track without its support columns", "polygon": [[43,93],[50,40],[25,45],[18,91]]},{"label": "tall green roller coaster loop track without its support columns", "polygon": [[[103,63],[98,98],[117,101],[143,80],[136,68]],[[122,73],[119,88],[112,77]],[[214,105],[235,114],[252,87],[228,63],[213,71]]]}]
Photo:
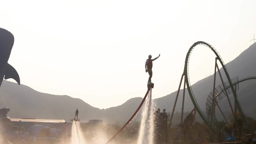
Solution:
[{"label": "tall green roller coaster loop track without its support columns", "polygon": [[215,131],[214,128],[213,128],[212,123],[210,123],[210,122],[207,120],[206,116],[204,115],[204,113],[202,112],[202,110],[201,110],[201,108],[199,107],[198,103],[196,102],[195,96],[194,96],[194,94],[193,94],[193,91],[192,91],[192,89],[191,89],[191,85],[190,85],[190,82],[189,82],[189,58],[190,58],[190,56],[191,56],[192,50],[193,50],[193,49],[195,48],[195,46],[197,46],[197,45],[204,45],[204,46],[207,46],[208,48],[210,48],[210,49],[215,53],[216,58],[217,58],[217,60],[220,62],[220,64],[222,65],[222,68],[223,68],[223,70],[224,70],[224,72],[225,72],[225,74],[226,74],[226,77],[227,77],[227,79],[228,79],[229,86],[230,86],[230,88],[231,88],[231,90],[232,90],[232,93],[233,93],[233,95],[234,95],[234,99],[235,99],[235,103],[237,104],[238,111],[243,114],[243,118],[244,118],[244,120],[246,120],[246,119],[245,119],[245,115],[244,115],[244,113],[243,113],[243,110],[242,110],[242,108],[241,108],[241,105],[240,105],[240,103],[239,103],[239,101],[238,101],[237,94],[236,94],[235,89],[234,89],[234,87],[233,87],[233,85],[232,85],[231,79],[230,79],[230,77],[229,77],[228,71],[227,71],[227,69],[226,69],[226,66],[225,66],[225,64],[224,64],[224,62],[223,62],[223,60],[222,60],[222,58],[220,57],[220,55],[219,55],[219,53],[217,52],[217,50],[213,48],[213,46],[211,46],[211,45],[208,44],[208,43],[202,42],[202,41],[199,41],[199,42],[194,43],[194,44],[189,48],[188,53],[187,53],[187,55],[186,55],[185,66],[184,66],[184,71],[183,71],[183,74],[185,75],[185,83],[186,83],[186,86],[187,86],[187,89],[188,89],[189,96],[190,96],[190,98],[191,98],[191,100],[192,100],[192,102],[193,102],[193,105],[195,106],[195,109],[196,109],[196,111],[198,112],[199,116],[202,118],[202,120],[204,120],[204,122],[209,126],[209,128],[211,128],[213,131]]}]

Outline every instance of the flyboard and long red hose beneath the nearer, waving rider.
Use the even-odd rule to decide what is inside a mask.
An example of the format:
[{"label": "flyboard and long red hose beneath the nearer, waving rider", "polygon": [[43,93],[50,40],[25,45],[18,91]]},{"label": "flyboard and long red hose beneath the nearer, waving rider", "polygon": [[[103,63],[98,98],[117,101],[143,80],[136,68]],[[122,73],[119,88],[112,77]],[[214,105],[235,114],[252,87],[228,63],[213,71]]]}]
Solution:
[{"label": "flyboard and long red hose beneath the nearer, waving rider", "polygon": [[138,113],[138,111],[140,110],[141,106],[143,105],[143,103],[144,103],[145,99],[147,98],[147,95],[149,94],[149,91],[150,91],[151,88],[154,88],[154,83],[147,82],[147,92],[146,92],[144,98],[142,99],[140,105],[138,106],[137,110],[134,112],[134,114],[131,116],[131,118],[124,124],[124,126],[121,129],[119,129],[119,131],[116,132],[116,134],[113,135],[113,137],[111,137],[107,141],[107,143],[105,143],[105,144],[108,144],[110,141],[112,141],[131,122],[131,120],[134,118],[134,116]]}]

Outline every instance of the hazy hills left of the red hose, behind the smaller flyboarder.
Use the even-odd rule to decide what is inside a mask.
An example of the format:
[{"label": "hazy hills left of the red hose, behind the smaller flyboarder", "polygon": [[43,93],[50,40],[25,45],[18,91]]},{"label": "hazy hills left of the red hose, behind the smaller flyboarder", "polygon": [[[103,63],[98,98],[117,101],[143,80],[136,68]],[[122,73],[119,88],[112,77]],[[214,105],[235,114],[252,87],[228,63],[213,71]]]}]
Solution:
[{"label": "hazy hills left of the red hose, behind the smaller flyboarder", "polygon": [[0,90],[0,107],[10,108],[12,118],[64,119],[74,118],[79,110],[79,119],[103,119],[106,123],[122,123],[131,116],[142,98],[129,99],[122,105],[100,110],[78,98],[67,95],[51,95],[37,92],[25,85],[4,80]]}]

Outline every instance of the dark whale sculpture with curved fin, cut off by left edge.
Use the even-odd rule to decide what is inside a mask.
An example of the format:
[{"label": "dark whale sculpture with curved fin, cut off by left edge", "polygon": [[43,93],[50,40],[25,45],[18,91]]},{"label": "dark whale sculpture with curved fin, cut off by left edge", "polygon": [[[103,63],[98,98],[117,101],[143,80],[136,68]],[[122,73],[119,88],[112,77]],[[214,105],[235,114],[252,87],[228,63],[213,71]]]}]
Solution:
[{"label": "dark whale sculpture with curved fin, cut off by left edge", "polygon": [[9,31],[0,28],[0,87],[4,79],[14,79],[19,85],[19,74],[8,60],[12,51],[14,37]]}]

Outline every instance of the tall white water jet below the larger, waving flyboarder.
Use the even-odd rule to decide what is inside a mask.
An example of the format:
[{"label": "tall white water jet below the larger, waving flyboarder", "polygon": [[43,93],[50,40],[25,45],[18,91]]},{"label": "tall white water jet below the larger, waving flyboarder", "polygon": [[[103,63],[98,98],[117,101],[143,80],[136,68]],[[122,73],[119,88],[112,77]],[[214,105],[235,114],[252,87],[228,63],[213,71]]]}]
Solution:
[{"label": "tall white water jet below the larger, waving flyboarder", "polygon": [[142,119],[140,124],[140,133],[137,144],[153,144],[154,133],[154,104],[152,100],[152,89],[147,97],[145,107],[142,112]]}]

